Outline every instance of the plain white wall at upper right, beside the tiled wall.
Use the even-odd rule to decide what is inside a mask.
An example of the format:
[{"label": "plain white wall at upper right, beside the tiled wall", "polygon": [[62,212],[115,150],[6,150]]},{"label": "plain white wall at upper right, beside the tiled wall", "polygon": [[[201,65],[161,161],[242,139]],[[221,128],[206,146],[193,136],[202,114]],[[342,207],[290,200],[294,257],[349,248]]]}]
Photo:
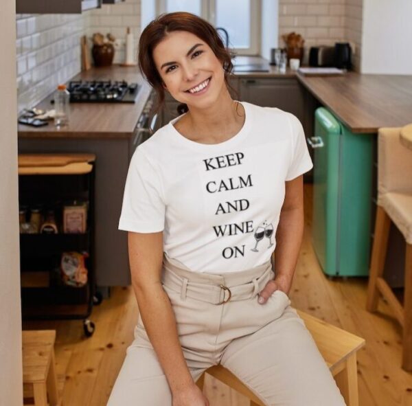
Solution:
[{"label": "plain white wall at upper right, beside the tiled wall", "polygon": [[412,74],[411,16],[411,0],[363,0],[363,74]]}]

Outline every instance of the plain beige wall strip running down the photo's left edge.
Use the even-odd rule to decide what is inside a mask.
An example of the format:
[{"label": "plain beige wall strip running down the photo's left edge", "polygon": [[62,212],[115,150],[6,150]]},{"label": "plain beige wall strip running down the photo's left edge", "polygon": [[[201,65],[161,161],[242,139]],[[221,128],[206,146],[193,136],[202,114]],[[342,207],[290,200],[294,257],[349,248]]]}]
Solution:
[{"label": "plain beige wall strip running down the photo's left edge", "polygon": [[1,1],[0,37],[0,404],[23,404],[17,192],[16,7]]}]

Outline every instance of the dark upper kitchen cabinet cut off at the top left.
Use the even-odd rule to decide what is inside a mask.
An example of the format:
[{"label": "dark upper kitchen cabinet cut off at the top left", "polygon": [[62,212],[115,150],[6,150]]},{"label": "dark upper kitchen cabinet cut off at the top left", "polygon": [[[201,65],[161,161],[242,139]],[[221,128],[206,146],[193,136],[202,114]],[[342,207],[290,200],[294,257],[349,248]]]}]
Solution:
[{"label": "dark upper kitchen cabinet cut off at the top left", "polygon": [[[106,1],[103,1],[105,3]],[[16,0],[17,14],[80,14],[100,8],[102,0]]]}]

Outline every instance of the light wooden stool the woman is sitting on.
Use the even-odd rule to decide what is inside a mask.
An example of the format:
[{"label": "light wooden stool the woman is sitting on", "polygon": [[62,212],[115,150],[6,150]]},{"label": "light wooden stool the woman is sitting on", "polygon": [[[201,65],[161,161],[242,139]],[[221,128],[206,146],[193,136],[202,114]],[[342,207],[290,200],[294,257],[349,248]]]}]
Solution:
[{"label": "light wooden stool the woman is sitting on", "polygon": [[[328,364],[345,403],[347,406],[358,406],[356,351],[365,346],[365,340],[304,312],[297,311],[297,313],[304,320],[306,328],[310,331],[319,348],[319,352]],[[222,365],[214,365],[205,372],[246,396],[250,400],[251,406],[266,406],[248,387]],[[202,390],[204,381],[205,374],[196,383]]]}]

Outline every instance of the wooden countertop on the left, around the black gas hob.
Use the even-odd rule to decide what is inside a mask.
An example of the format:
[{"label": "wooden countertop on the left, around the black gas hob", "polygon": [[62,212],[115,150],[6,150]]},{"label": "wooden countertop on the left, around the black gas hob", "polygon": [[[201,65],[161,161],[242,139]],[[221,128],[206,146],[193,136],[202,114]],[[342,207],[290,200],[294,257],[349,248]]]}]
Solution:
[{"label": "wooden countertop on the left, around the black gas hob", "polygon": [[[92,67],[82,71],[71,80],[126,80],[140,85],[135,103],[71,103],[69,126],[56,128],[53,122],[48,126],[32,127],[19,124],[19,137],[49,138],[120,138],[131,137],[137,120],[150,95],[151,87],[139,74],[138,67]],[[38,109],[53,109],[49,95],[36,105]]]}]

